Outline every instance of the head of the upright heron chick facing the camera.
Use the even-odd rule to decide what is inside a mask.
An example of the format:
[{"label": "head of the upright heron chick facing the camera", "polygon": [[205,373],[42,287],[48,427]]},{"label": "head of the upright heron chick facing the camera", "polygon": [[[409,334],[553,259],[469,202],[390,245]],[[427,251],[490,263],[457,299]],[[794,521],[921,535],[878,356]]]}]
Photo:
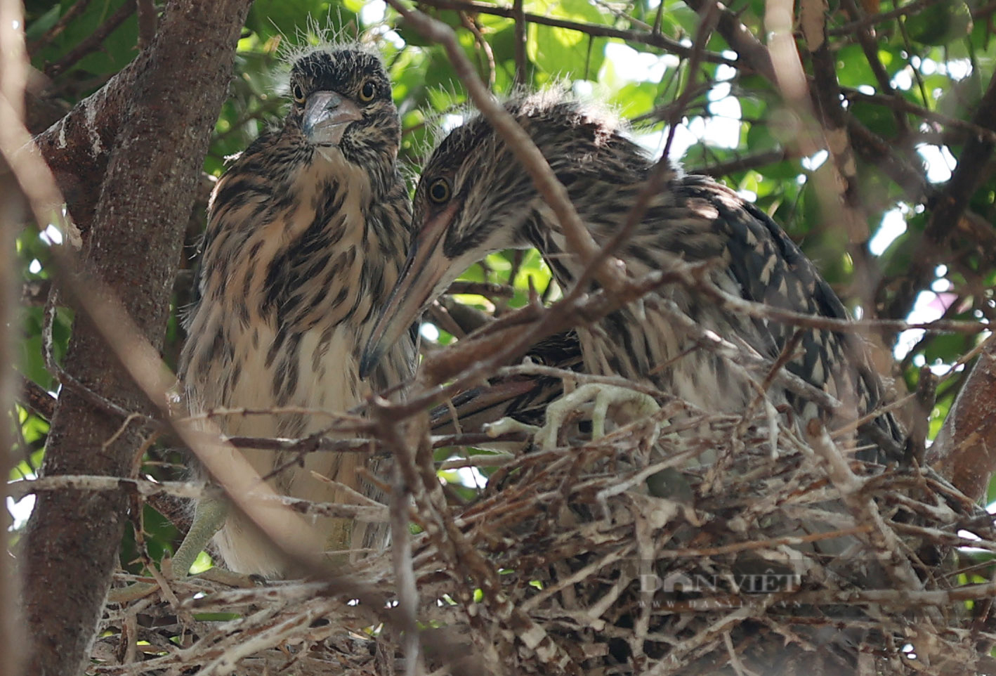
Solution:
[{"label": "head of the upright heron chick facing the camera", "polygon": [[400,123],[380,60],[359,46],[325,48],[295,60],[286,127],[318,150],[338,148],[356,165],[397,157]]}]

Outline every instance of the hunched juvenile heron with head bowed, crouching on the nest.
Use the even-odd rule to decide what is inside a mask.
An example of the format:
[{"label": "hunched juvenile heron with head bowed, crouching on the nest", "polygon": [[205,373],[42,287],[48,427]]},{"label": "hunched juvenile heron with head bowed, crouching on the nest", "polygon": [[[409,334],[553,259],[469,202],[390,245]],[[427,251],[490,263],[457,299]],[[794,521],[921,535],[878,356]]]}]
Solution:
[{"label": "hunched juvenile heron with head bowed, crouching on the nest", "polygon": [[[516,98],[506,109],[567,188],[596,242],[616,232],[647,182],[653,163],[610,116],[557,94]],[[491,125],[476,117],[453,130],[422,172],[414,197],[413,241],[401,280],[364,354],[370,370],[425,305],[487,253],[536,247],[565,288],[582,272],[553,210]],[[676,260],[717,261],[712,281],[751,301],[812,315],[847,312],[813,263],[763,211],[712,179],[670,168],[641,220],[615,252],[628,273],[667,270]],[[671,284],[578,327],[585,370],[650,384],[702,409],[742,413],[757,388],[697,337],[673,322],[673,301],[699,327],[776,359],[796,327],[727,310],[694,289]],[[881,385],[854,336],[806,330],[787,364],[793,374],[843,401],[838,420],[777,384],[775,405],[808,420],[843,422],[873,410]],[[763,374],[758,380],[763,379]],[[798,389],[798,388],[797,388]],[[895,421],[874,423],[891,440]],[[880,435],[879,435],[880,436]],[[883,460],[876,453],[870,457]]]}]

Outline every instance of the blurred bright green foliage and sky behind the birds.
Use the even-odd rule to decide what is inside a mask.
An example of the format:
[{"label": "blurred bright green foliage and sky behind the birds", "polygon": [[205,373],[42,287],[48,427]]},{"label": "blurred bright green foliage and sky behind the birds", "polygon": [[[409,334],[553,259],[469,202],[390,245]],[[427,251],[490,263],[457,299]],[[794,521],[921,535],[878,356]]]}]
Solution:
[{"label": "blurred bright green foliage and sky behind the birds", "polygon": [[[134,4],[133,0],[25,2],[35,69],[28,93],[34,133],[44,131],[134,58],[147,39],[139,30]],[[948,249],[925,252],[923,232],[965,145],[979,138],[979,128],[971,121],[993,76],[996,2],[892,0],[879,5],[878,0],[865,0],[859,6],[850,0],[831,0],[829,39],[848,102],[846,115],[882,141],[885,149],[881,163],[867,156],[858,162],[868,225],[862,241],[849,240],[843,225],[827,215],[833,209],[826,208],[816,188],[820,172],[829,169],[827,154],[799,156],[794,128],[786,124],[777,89],[741,67],[718,32],[703,46],[706,58],[692,69],[687,50],[699,18],[681,0],[526,0],[522,3],[527,18],[525,45],[518,52],[511,5],[432,0],[419,7],[454,28],[479,75],[496,94],[506,94],[517,85],[559,83],[604,101],[631,122],[634,135],[649,153],[659,154],[667,146],[687,170],[712,173],[756,202],[801,244],[858,316],[911,321],[992,318],[996,281],[992,166],[984,170],[981,187],[970,198],[964,216],[969,226],[951,225],[958,236]],[[766,40],[764,0],[731,0],[729,9],[759,41]],[[866,22],[873,31],[869,50],[860,44],[855,22],[875,14],[881,14],[878,20]],[[202,190],[191,214],[175,286],[176,311],[189,297],[212,179],[224,169],[226,157],[244,149],[286,110],[284,48],[329,35],[373,41],[382,53],[402,117],[401,159],[412,176],[435,130],[457,124],[465,113],[460,108],[466,102],[464,90],[442,48],[427,43],[383,3],[257,0],[238,44],[236,77],[204,162]],[[812,72],[805,50],[801,54],[804,67]],[[883,80],[890,91],[883,91]],[[673,104],[685,91],[686,105],[678,110]],[[671,126],[674,135],[668,142]],[[881,169],[886,161],[921,176],[922,184],[900,185]],[[25,379],[55,393],[43,346],[53,240],[58,241],[58,232],[52,228],[42,234],[26,228],[17,240],[25,289],[17,367]],[[928,278],[913,280],[912,293],[904,292],[907,297],[902,298],[900,282],[911,262],[926,253],[940,262]],[[465,279],[513,286],[511,298],[458,296],[491,313],[521,305],[530,284],[548,299],[559,293],[535,251],[492,255],[469,270]],[[56,361],[62,358],[70,326],[71,317],[59,310],[51,332],[51,358]],[[431,321],[423,336],[428,349],[452,339]],[[173,319],[164,350],[171,364],[182,340],[179,323]],[[883,335],[883,353],[894,357],[891,375],[897,381],[896,392],[915,387],[923,365],[947,373],[949,365],[978,340],[963,334],[925,336],[922,331]],[[950,407],[962,373],[959,370],[941,383],[931,412],[931,436]],[[12,415],[17,429],[15,457],[22,459],[10,478],[16,481],[37,471],[48,424],[26,405]],[[153,477],[183,477],[182,459],[174,450],[153,448],[147,461],[143,472]],[[464,498],[472,497],[474,481],[482,479],[456,471],[445,478]],[[15,528],[23,524],[29,506],[26,499],[14,507]],[[157,558],[172,546],[176,529],[150,508],[140,516],[147,551]],[[140,550],[129,532],[123,562],[133,569]]]}]

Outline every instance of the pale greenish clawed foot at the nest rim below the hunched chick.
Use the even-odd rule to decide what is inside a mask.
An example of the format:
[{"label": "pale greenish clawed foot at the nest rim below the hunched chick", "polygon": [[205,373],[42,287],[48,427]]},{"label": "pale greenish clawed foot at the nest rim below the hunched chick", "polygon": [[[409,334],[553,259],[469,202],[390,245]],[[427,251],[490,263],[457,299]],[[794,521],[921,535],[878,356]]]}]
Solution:
[{"label": "pale greenish clawed foot at the nest rim below the hunched chick", "polygon": [[[588,383],[574,392],[566,394],[547,407],[546,424],[536,433],[536,440],[544,450],[557,448],[560,429],[568,417],[575,411],[592,407],[592,439],[600,439],[606,435],[606,418],[609,407],[624,406],[624,417],[635,420],[651,416],[660,410],[653,397],[616,385],[601,385]],[[656,440],[656,431],[651,444]]]}]

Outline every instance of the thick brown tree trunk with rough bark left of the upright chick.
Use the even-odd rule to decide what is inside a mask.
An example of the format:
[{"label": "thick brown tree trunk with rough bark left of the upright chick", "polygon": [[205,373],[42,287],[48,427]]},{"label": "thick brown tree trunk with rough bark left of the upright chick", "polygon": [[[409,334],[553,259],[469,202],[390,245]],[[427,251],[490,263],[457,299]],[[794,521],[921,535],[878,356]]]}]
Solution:
[{"label": "thick brown tree trunk with rough bark left of the upright chick", "polygon": [[[248,5],[248,0],[168,3],[158,35],[133,64],[134,85],[127,90],[127,110],[108,155],[87,247],[88,269],[120,299],[156,348],[183,229]],[[149,408],[82,312],[73,327],[66,371],[126,410]],[[95,407],[92,397],[64,387],[43,474],[131,475],[140,430],[131,425],[116,436],[122,422]],[[25,615],[34,639],[29,673],[80,672],[117,563],[125,508],[122,494],[39,496],[22,554]]]}]

